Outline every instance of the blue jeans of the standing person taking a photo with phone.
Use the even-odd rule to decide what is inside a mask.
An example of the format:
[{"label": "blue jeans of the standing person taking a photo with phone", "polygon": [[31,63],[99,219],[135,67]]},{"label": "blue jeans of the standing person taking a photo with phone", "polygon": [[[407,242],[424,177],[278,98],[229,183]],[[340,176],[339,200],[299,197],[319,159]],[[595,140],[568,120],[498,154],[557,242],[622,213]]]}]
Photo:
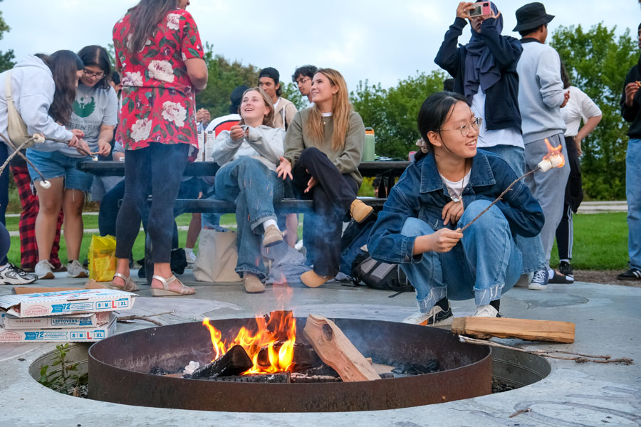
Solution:
[{"label": "blue jeans of the standing person taking a photo with phone", "polygon": [[[516,176],[521,176],[525,173],[525,154],[521,147],[500,144],[494,145],[494,147],[482,147],[481,149],[504,159]],[[546,257],[543,253],[543,243],[541,243],[540,235],[536,237],[517,235],[514,240],[518,251],[521,251],[521,255],[523,255],[523,271],[521,273],[531,273],[546,266]]]}]

